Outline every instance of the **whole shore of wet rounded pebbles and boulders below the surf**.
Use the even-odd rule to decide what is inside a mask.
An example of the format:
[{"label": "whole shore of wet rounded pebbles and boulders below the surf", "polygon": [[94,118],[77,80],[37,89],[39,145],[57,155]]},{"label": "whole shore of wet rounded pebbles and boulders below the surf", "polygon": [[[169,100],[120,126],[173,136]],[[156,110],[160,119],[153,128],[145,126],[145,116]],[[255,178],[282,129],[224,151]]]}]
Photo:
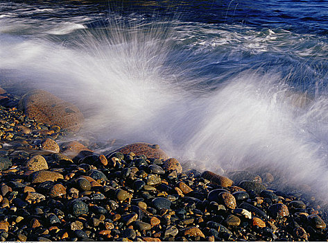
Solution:
[{"label": "whole shore of wet rounded pebbles and boulders below the surf", "polygon": [[75,106],[42,90],[1,93],[1,241],[328,239],[322,205],[273,189],[269,173],[185,171],[157,144],[101,154],[61,143],[81,127]]}]

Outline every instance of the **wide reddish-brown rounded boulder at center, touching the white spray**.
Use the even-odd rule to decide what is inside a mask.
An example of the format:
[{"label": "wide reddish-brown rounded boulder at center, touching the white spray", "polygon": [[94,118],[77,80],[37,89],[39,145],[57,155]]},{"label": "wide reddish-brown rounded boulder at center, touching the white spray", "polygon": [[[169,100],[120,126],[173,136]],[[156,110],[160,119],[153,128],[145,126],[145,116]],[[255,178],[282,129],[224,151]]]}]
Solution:
[{"label": "wide reddish-brown rounded boulder at center, touching the white spray", "polygon": [[135,153],[136,156],[145,155],[147,158],[157,158],[166,160],[169,158],[162,149],[159,149],[158,146],[154,144],[147,144],[144,142],[137,142],[135,144],[128,144],[116,150],[120,153]]}]

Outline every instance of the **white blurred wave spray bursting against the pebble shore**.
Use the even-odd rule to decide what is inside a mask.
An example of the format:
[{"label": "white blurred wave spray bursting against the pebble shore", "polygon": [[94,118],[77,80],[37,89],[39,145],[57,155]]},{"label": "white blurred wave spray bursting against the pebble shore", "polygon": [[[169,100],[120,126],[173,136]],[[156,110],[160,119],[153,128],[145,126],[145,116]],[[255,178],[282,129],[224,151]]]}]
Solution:
[{"label": "white blurred wave spray bursting against the pebble shore", "polygon": [[[23,80],[76,103],[86,117],[81,135],[157,143],[173,157],[197,161],[198,169],[275,171],[288,184],[309,184],[327,199],[325,92],[312,92],[311,86],[299,92],[291,76],[277,72],[282,65],[254,61],[251,68],[241,62],[241,46],[258,47],[256,54],[283,48],[282,42],[268,42],[286,33],[272,37],[268,31],[262,42],[248,29],[252,40],[245,32],[223,40],[223,31],[233,32],[212,29],[217,42],[208,47],[223,46],[213,55],[202,49],[202,35],[197,39],[181,26],[116,20],[101,30],[74,28],[65,42],[0,35],[0,70],[10,70],[13,82]],[[228,42],[232,49],[225,51]],[[232,56],[240,68],[216,66]]]}]

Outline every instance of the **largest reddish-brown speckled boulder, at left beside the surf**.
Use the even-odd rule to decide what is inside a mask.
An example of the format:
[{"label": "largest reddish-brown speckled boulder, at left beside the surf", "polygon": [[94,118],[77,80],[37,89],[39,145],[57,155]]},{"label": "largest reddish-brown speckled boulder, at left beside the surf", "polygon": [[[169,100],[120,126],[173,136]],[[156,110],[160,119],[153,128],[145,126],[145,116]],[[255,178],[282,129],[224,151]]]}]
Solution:
[{"label": "largest reddish-brown speckled boulder, at left beside the surf", "polygon": [[58,125],[67,131],[76,132],[83,124],[83,114],[76,106],[44,90],[27,92],[18,107],[31,119]]}]

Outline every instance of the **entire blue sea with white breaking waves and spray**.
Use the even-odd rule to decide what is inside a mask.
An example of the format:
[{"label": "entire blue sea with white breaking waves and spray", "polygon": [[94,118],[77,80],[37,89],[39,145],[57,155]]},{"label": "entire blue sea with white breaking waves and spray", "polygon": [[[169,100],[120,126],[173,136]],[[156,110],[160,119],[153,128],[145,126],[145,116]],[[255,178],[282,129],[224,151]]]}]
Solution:
[{"label": "entire blue sea with white breaking waves and spray", "polygon": [[150,142],[327,200],[327,34],[327,0],[0,1],[0,84],[75,103],[99,153]]}]

